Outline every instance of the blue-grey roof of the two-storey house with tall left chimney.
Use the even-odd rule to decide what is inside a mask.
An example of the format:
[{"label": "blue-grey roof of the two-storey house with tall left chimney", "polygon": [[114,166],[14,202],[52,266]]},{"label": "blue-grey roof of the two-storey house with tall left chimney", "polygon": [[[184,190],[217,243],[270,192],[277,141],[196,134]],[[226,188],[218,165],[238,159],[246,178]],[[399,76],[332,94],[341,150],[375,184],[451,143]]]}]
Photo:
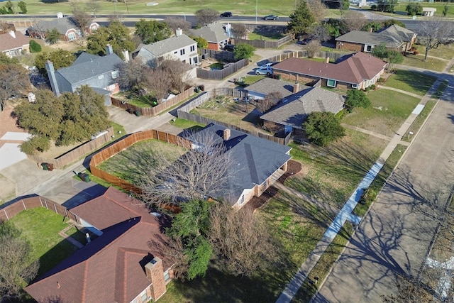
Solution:
[{"label": "blue-grey roof of the two-storey house with tall left chimney", "polygon": [[106,56],[82,53],[70,67],[62,67],[57,70],[57,73],[67,79],[67,82],[76,84],[106,72],[118,70],[118,65],[122,62],[123,60],[115,53]]}]

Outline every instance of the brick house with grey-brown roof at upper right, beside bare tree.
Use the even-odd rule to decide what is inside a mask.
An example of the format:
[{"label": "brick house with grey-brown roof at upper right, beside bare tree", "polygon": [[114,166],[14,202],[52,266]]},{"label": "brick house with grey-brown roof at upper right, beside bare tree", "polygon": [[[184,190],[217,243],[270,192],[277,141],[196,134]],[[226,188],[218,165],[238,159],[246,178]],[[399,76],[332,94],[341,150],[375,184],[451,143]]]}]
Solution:
[{"label": "brick house with grey-brown roof at upper right, beside bare tree", "polygon": [[388,26],[381,31],[350,31],[336,38],[336,49],[372,53],[377,46],[384,44],[389,50],[407,52],[415,43],[416,33],[397,25]]}]

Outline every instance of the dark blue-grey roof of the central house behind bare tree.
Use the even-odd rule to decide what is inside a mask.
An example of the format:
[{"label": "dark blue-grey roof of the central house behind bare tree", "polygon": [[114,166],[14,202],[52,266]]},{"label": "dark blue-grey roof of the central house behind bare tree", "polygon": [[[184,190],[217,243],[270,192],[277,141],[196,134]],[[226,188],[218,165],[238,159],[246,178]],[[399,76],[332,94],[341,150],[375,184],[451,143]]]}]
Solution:
[{"label": "dark blue-grey roof of the central house behind bare tree", "polygon": [[[252,189],[255,185],[262,184],[279,167],[282,167],[292,157],[292,149],[266,139],[258,138],[242,131],[231,129],[231,136],[223,140],[223,131],[226,126],[210,123],[200,132],[216,133],[218,143],[223,143],[226,153],[231,153],[234,167],[231,167],[229,188],[221,193],[213,193],[214,197],[232,194],[238,199],[244,189]],[[236,164],[236,165],[235,165]],[[235,201],[236,202],[236,201]]]}]

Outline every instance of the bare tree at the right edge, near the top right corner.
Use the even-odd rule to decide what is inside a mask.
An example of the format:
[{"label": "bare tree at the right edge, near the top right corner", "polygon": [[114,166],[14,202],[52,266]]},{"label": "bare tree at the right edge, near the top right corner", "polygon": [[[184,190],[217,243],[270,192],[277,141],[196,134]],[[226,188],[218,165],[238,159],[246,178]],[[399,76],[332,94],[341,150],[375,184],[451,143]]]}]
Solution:
[{"label": "bare tree at the right edge, near the top right corner", "polygon": [[450,22],[443,21],[442,18],[435,18],[419,24],[419,43],[426,47],[424,61],[427,60],[428,52],[431,49],[454,43],[454,31]]}]

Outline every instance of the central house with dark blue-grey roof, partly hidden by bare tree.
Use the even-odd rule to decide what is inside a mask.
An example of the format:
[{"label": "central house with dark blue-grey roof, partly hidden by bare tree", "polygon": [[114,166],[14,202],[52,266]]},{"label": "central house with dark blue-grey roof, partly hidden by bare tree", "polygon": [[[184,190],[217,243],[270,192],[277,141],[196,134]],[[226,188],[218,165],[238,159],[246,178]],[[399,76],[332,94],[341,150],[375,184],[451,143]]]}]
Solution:
[{"label": "central house with dark blue-grey roof, partly hidden by bare tree", "polygon": [[[259,197],[287,170],[292,158],[287,145],[281,145],[248,133],[210,123],[201,131],[214,133],[218,144],[231,153],[234,166],[226,188],[214,192],[213,197],[231,201],[233,207],[244,206],[253,197]],[[188,138],[191,140],[190,136]]]}]

